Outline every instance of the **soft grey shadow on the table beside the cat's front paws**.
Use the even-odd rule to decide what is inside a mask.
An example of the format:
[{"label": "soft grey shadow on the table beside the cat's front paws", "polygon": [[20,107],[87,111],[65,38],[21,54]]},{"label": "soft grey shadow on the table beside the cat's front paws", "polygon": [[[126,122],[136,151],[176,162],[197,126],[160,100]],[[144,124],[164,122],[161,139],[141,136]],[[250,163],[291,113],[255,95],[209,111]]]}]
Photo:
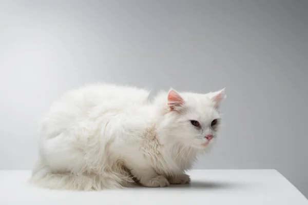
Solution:
[{"label": "soft grey shadow on the table beside the cat's front paws", "polygon": [[207,189],[207,190],[226,190],[226,189],[239,189],[244,185],[241,183],[231,183],[222,181],[192,181],[186,185],[170,185],[172,188],[180,189]]}]

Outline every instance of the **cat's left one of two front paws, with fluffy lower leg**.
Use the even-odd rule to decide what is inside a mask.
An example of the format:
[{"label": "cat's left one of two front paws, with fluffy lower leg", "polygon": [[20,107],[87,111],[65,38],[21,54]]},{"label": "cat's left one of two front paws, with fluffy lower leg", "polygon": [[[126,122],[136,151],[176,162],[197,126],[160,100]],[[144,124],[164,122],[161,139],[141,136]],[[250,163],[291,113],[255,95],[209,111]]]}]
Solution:
[{"label": "cat's left one of two front paws, with fluffy lower leg", "polygon": [[166,177],[158,175],[150,166],[128,166],[130,173],[145,187],[167,187],[169,182]]}]

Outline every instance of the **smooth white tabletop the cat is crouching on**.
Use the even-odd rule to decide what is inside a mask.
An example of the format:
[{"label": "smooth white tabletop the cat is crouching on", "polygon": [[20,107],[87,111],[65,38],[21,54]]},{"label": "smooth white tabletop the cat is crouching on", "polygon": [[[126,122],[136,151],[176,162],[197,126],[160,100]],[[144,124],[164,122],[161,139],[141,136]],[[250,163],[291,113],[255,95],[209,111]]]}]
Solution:
[{"label": "smooth white tabletop the cat is crouching on", "polygon": [[0,204],[279,204],[308,200],[276,170],[192,170],[190,185],[60,191],[28,185],[30,171],[0,171]]}]

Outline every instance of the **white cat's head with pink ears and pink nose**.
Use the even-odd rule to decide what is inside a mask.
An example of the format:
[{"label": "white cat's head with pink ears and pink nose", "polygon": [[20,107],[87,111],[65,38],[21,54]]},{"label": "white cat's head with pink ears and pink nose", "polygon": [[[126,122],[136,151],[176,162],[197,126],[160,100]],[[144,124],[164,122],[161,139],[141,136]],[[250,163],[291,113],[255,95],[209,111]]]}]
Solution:
[{"label": "white cat's head with pink ears and pink nose", "polygon": [[201,150],[210,147],[220,128],[219,107],[226,97],[224,91],[197,94],[169,90],[164,96],[165,113],[159,124],[163,143],[178,142]]}]

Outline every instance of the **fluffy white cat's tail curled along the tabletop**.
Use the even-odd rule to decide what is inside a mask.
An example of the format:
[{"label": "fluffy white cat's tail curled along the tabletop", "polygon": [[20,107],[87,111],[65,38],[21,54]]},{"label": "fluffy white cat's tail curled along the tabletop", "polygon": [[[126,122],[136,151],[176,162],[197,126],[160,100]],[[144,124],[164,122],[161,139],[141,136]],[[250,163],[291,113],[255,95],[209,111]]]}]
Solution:
[{"label": "fluffy white cat's tail curled along the tabletop", "polygon": [[49,189],[100,191],[136,186],[129,175],[118,170],[106,170],[100,175],[53,173],[48,166],[38,161],[28,181],[31,185]]}]

